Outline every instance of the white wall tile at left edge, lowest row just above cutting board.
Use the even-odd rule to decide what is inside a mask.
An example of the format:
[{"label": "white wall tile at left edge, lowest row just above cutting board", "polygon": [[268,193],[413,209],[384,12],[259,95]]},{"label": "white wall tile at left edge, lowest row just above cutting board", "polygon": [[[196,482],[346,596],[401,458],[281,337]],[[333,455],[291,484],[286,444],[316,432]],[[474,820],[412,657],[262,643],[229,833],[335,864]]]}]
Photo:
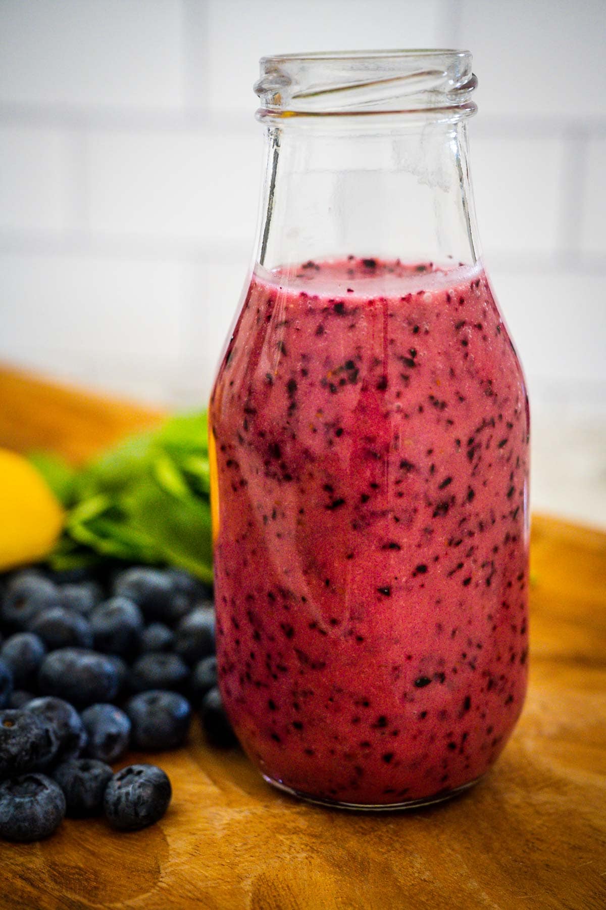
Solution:
[{"label": "white wall tile at left edge, lowest row just above cutting board", "polygon": [[[186,265],[88,256],[0,257],[0,358],[171,363]],[[111,366],[108,366],[108,371]]]}]

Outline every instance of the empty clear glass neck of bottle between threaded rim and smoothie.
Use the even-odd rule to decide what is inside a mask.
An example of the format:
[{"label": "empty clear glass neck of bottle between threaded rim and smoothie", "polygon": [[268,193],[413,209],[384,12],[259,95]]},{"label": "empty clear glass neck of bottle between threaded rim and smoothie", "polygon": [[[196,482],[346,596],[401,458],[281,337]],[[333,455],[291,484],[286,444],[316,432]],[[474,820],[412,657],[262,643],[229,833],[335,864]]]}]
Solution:
[{"label": "empty clear glass neck of bottle between threaded rim and smoothie", "polygon": [[[480,256],[465,118],[266,126],[256,261],[464,263]],[[362,119],[364,118],[357,118]]]}]

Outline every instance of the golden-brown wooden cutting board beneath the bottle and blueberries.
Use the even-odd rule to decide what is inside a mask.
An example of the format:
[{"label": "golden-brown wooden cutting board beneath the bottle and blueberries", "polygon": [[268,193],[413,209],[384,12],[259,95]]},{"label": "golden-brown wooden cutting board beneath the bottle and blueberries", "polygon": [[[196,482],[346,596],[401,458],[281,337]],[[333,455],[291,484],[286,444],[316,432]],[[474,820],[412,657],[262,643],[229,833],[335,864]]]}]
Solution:
[{"label": "golden-brown wooden cutting board beneath the bottle and blueberries", "polygon": [[[0,445],[82,460],[159,417],[0,371]],[[604,910],[606,534],[534,516],[531,561],[528,700],[468,794],[421,812],[328,811],[274,792],[194,723],[187,748],[136,755],[172,779],[160,824],[67,820],[40,844],[0,842],[0,906]]]}]

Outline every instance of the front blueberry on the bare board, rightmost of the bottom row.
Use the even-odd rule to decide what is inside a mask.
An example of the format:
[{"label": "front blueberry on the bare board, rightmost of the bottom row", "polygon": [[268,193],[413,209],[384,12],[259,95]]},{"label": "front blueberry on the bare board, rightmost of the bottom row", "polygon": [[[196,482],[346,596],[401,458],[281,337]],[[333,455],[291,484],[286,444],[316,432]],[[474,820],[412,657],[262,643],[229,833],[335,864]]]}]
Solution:
[{"label": "front blueberry on the bare board, rightmost of the bottom row", "polygon": [[131,764],[107,784],[105,816],[114,828],[138,831],[162,818],[172,794],[171,782],[162,768]]}]

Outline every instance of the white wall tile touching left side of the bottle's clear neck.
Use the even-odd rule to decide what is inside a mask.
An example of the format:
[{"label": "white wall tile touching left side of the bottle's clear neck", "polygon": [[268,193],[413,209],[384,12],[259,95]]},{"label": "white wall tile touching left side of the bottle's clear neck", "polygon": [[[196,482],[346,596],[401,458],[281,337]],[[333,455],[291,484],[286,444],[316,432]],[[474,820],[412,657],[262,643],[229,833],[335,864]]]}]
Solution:
[{"label": "white wall tile touching left side of the bottle's clear neck", "polygon": [[100,234],[253,244],[262,130],[97,131],[88,139],[90,227]]}]

